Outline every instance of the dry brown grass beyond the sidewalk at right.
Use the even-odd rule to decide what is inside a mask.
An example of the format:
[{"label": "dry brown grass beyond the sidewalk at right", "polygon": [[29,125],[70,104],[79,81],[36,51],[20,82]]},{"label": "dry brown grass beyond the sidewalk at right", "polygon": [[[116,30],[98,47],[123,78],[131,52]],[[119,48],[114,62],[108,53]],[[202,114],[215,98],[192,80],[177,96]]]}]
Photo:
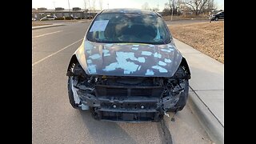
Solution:
[{"label": "dry brown grass beyond the sidewalk at right", "polygon": [[169,26],[178,40],[224,63],[224,21]]}]

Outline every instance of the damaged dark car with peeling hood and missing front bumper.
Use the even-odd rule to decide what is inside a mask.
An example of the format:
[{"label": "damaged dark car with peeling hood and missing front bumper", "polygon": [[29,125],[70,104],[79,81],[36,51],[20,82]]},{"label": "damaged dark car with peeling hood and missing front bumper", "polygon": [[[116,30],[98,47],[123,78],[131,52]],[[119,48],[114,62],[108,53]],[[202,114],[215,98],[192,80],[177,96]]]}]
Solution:
[{"label": "damaged dark car with peeling hood and missing front bumper", "polygon": [[98,120],[159,122],[186,105],[190,69],[162,16],[150,10],[102,10],[67,68],[75,109]]}]

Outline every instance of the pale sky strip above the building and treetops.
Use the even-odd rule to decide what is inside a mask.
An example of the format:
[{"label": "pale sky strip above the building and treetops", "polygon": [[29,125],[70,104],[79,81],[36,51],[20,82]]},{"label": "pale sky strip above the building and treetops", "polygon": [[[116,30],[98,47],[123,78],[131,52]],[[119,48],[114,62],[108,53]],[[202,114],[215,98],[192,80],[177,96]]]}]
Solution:
[{"label": "pale sky strip above the building and treetops", "polygon": [[[85,8],[84,0],[69,0],[70,1],[70,9],[72,7],[80,7],[82,9]],[[88,0],[86,0],[88,2]],[[92,5],[93,0],[90,0],[90,6]],[[102,9],[108,8],[142,8],[142,5],[148,2],[150,8],[158,7],[159,10],[162,11],[164,8],[164,4],[168,2],[168,0],[102,0]],[[224,0],[214,0],[214,2],[218,6],[218,10],[224,10]],[[95,0],[96,9],[99,9],[99,0]],[[46,7],[47,9],[54,9],[54,7],[63,7],[65,9],[69,8],[68,0],[32,0],[32,8],[38,7]],[[88,7],[87,7],[88,8]]]}]

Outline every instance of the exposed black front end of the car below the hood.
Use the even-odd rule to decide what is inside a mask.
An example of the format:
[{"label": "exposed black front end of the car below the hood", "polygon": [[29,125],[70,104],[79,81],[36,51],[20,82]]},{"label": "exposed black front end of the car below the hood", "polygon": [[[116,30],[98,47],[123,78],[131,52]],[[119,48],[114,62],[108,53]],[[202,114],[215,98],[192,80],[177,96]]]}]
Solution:
[{"label": "exposed black front end of the car below the hood", "polygon": [[179,98],[187,97],[188,76],[179,66],[171,78],[87,75],[77,62],[68,71],[74,102],[95,119],[159,122]]}]

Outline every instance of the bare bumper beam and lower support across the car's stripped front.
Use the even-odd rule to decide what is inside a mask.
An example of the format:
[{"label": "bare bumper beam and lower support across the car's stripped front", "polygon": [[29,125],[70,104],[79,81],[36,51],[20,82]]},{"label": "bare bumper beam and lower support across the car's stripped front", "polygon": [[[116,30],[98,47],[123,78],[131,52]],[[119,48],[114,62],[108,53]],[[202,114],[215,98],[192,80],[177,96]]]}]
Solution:
[{"label": "bare bumper beam and lower support across the car's stripped front", "polygon": [[97,120],[118,122],[159,122],[166,110],[175,106],[179,95],[156,98],[142,96],[100,96],[82,94],[78,90],[83,105],[90,106]]}]

